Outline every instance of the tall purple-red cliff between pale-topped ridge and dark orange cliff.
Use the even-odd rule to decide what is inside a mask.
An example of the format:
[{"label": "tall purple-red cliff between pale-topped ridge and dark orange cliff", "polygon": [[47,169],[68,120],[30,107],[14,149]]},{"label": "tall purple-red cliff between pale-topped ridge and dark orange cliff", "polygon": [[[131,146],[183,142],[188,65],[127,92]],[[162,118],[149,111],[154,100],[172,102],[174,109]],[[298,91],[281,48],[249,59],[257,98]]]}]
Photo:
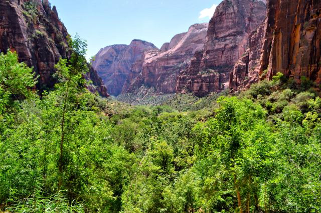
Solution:
[{"label": "tall purple-red cliff between pale-topped ridge and dark orange cliff", "polygon": [[203,96],[229,86],[230,71],[266,14],[261,0],[223,0],[210,20],[203,52],[177,77],[177,92]]}]

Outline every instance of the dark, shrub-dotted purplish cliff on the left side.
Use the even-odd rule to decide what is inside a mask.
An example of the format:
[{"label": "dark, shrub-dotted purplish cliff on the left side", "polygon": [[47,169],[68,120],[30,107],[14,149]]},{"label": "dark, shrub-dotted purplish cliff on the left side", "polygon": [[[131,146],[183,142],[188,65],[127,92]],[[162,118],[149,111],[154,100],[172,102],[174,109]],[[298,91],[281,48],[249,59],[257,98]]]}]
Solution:
[{"label": "dark, shrub-dotted purplish cliff on the left side", "polygon": [[56,7],[51,9],[48,0],[0,1],[0,52],[17,51],[20,61],[33,66],[40,75],[40,91],[55,84],[54,66],[59,58],[68,57],[67,36]]}]

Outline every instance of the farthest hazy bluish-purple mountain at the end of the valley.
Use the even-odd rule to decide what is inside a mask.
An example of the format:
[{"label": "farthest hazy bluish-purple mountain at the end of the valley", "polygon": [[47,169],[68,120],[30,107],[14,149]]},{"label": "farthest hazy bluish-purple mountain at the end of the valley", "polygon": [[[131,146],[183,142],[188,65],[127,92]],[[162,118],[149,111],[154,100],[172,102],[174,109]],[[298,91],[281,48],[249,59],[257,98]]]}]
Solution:
[{"label": "farthest hazy bluish-purple mountain at the end of the valley", "polygon": [[141,59],[144,51],[156,48],[154,44],[134,39],[129,45],[117,44],[99,50],[92,61],[93,68],[108,87],[110,94],[117,96],[128,79],[133,64]]}]

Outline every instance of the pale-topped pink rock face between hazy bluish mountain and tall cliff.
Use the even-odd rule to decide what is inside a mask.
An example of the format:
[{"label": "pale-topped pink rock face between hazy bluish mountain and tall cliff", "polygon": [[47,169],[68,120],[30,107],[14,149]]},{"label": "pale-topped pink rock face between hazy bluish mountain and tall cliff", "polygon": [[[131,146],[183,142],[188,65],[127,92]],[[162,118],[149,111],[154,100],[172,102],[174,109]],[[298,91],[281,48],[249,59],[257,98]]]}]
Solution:
[{"label": "pale-topped pink rock face between hazy bluish mountain and tall cliff", "polygon": [[175,35],[161,50],[146,51],[130,71],[123,92],[140,86],[154,87],[156,93],[174,93],[176,77],[187,67],[196,51],[204,46],[208,24],[194,24],[188,32]]}]

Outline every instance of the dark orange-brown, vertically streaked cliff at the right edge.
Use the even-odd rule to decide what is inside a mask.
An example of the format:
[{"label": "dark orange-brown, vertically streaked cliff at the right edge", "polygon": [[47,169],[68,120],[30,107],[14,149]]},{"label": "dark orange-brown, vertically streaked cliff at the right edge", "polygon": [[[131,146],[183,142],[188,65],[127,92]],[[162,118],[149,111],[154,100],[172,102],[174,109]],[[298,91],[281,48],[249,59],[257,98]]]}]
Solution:
[{"label": "dark orange-brown, vertically streaked cliff at the right edge", "polygon": [[268,79],[282,72],[321,82],[321,1],[269,0],[263,39],[260,70],[268,70]]}]

